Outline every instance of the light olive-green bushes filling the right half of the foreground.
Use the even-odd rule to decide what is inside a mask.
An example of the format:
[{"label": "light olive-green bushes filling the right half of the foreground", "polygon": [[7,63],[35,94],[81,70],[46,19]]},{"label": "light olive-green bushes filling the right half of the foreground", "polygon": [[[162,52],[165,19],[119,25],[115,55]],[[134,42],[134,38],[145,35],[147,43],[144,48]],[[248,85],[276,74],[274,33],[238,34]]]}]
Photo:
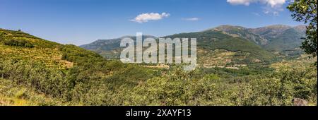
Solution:
[{"label": "light olive-green bushes filling the right half of the foreground", "polygon": [[133,105],[293,105],[293,97],[300,97],[317,104],[317,72],[313,69],[283,68],[270,76],[232,80],[217,74],[198,80],[192,78],[196,72],[172,71],[137,86],[126,101]]}]

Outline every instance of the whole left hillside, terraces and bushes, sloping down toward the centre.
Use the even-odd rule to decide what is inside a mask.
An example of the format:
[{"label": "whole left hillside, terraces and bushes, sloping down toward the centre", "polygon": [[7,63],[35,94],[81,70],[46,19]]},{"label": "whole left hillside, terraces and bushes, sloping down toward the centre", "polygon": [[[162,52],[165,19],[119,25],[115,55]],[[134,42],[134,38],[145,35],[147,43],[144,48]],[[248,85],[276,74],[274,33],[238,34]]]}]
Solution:
[{"label": "whole left hillside, terraces and bushes, sloping down toward the centre", "polygon": [[20,30],[0,30],[0,105],[96,104],[93,99],[101,94],[130,90],[160,71],[107,61],[81,47]]}]

